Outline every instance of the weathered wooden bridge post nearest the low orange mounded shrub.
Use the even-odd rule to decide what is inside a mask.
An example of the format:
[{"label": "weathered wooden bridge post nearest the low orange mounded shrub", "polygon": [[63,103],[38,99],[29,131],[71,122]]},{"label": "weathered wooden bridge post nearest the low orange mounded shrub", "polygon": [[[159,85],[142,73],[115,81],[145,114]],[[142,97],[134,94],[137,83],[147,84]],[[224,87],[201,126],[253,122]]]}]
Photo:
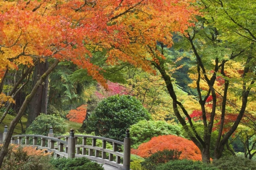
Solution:
[{"label": "weathered wooden bridge post nearest the low orange mounded shrub", "polygon": [[131,160],[131,138],[129,129],[126,130],[124,138],[124,168],[123,170],[130,170],[130,160]]}]

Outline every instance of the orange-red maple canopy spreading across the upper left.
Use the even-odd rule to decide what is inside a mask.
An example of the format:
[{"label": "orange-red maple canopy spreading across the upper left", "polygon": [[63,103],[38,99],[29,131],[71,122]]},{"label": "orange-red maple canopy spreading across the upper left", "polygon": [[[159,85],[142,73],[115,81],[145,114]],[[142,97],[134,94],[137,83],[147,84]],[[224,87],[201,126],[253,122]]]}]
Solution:
[{"label": "orange-red maple canopy spreading across the upper left", "polygon": [[[192,0],[191,0],[192,1]],[[106,49],[107,62],[129,62],[151,70],[156,42],[172,45],[196,14],[190,0],[0,1],[0,72],[36,59],[72,61],[106,82],[91,54]],[[1,73],[2,75],[2,73]]]}]

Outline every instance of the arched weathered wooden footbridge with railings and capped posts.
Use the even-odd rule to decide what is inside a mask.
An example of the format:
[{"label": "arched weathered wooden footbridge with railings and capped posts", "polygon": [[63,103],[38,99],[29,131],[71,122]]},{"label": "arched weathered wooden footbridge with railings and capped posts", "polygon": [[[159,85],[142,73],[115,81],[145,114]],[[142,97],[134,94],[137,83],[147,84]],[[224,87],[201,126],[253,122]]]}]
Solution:
[{"label": "arched weathered wooden footbridge with railings and capped posts", "polygon": [[[7,132],[7,126],[5,126],[3,141]],[[97,139],[102,141],[101,147],[96,146]],[[78,144],[78,141],[82,141],[82,143]],[[91,145],[87,145],[88,141],[91,141]],[[112,150],[106,149],[107,142],[112,143]],[[44,149],[46,152],[52,152],[55,157],[86,157],[105,164],[103,167],[106,170],[130,170],[131,139],[129,130],[126,131],[124,142],[120,142],[99,136],[75,135],[73,129],[70,130],[70,135],[54,137],[51,127],[48,136],[15,135],[12,136],[11,143]],[[119,152],[120,148],[124,148],[123,153]],[[123,164],[121,164],[121,159],[123,159]]]}]

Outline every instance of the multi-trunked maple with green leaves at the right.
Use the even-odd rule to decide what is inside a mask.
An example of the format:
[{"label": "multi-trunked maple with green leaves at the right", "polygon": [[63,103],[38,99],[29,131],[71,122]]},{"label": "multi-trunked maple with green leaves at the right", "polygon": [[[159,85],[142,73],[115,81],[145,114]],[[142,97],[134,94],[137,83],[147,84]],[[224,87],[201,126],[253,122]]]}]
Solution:
[{"label": "multi-trunked maple with green leaves at the right", "polygon": [[[211,134],[214,128],[218,131],[214,157],[218,159],[222,156],[224,147],[236,131],[246,109],[250,109],[247,108],[248,101],[253,99],[255,29],[253,19],[250,18],[254,16],[252,11],[255,4],[251,1],[246,3],[245,5],[240,1],[224,0],[197,1],[196,4],[201,6],[204,16],[197,17],[195,26],[180,34],[183,37],[178,38],[178,41],[187,45],[185,49],[193,50],[195,63],[191,67],[191,72],[194,73],[197,96],[192,102],[197,103],[194,115],[200,114],[202,118],[202,136],[199,135],[190,117],[189,107],[177,98],[173,88],[175,82],[167,72],[166,60],[161,60],[161,55],[154,54],[155,51],[152,49],[160,64],[153,61],[152,63],[165,80],[175,116],[187,134],[190,134],[190,139],[200,148],[203,162],[210,162]],[[160,44],[159,50],[165,55],[163,44]],[[212,97],[211,102],[208,100],[209,96]],[[233,100],[233,97],[236,97],[236,100]],[[228,119],[231,121],[227,121]],[[216,120],[218,126],[214,127]],[[228,128],[225,126],[226,122]]]}]

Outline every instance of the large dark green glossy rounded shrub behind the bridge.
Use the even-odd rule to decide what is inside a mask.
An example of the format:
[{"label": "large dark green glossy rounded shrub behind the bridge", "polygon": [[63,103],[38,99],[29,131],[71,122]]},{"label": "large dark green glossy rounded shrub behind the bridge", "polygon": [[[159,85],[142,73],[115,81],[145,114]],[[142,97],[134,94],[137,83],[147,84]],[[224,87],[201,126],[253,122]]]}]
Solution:
[{"label": "large dark green glossy rounded shrub behind the bridge", "polygon": [[103,99],[85,124],[87,133],[123,141],[130,125],[150,119],[139,100],[129,95],[115,95]]}]

